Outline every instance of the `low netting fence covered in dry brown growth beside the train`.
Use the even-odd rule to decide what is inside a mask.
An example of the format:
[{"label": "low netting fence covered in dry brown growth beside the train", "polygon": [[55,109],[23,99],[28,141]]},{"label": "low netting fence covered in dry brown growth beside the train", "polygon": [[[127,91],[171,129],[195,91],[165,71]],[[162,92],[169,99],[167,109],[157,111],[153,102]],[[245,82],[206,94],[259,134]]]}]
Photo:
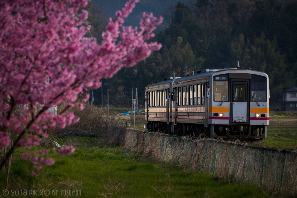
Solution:
[{"label": "low netting fence covered in dry brown growth beside the train", "polygon": [[189,166],[236,182],[254,183],[297,195],[297,152],[252,147],[215,139],[192,141],[173,135],[123,127],[110,135],[127,152]]}]

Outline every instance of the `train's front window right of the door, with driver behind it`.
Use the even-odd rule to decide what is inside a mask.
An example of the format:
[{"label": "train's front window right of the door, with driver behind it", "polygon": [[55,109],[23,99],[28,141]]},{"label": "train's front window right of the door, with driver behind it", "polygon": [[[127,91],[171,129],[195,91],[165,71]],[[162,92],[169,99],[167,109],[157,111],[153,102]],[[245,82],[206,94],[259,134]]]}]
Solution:
[{"label": "train's front window right of the door, with driver behind it", "polygon": [[263,76],[251,75],[252,102],[266,102],[267,79]]}]

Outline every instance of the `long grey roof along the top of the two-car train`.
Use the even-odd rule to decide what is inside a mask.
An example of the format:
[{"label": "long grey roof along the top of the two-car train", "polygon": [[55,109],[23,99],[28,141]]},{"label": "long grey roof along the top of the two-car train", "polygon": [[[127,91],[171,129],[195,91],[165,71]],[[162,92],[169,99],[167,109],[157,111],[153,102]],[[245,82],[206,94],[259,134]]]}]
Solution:
[{"label": "long grey roof along the top of the two-car train", "polygon": [[[203,69],[203,70],[198,70],[197,71],[197,74],[194,74],[194,75],[189,75],[189,76],[185,76],[185,77],[167,77],[163,81],[156,82],[156,83],[151,83],[151,84],[147,85],[146,87],[158,86],[158,85],[164,85],[164,84],[168,84],[169,85],[172,81],[174,81],[174,83],[176,83],[176,82],[185,81],[185,80],[187,81],[187,80],[191,80],[191,79],[195,79],[195,78],[200,78],[200,77],[206,77],[206,76],[209,77],[214,72],[221,73],[222,71],[226,71],[226,70],[228,70],[228,73],[238,73],[239,71],[242,71],[243,69],[237,69],[237,68]],[[247,72],[247,73],[259,72],[259,71],[251,70],[251,69],[244,69],[244,70],[250,71],[250,72]],[[264,72],[260,72],[260,73],[264,73]]]}]

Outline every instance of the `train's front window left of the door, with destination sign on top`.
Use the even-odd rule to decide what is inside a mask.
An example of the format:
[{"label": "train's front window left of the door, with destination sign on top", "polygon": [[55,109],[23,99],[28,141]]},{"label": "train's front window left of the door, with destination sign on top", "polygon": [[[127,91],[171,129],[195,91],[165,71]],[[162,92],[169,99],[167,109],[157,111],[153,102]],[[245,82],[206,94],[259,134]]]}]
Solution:
[{"label": "train's front window left of the door, with destination sign on top", "polygon": [[229,101],[229,75],[214,76],[213,100]]}]

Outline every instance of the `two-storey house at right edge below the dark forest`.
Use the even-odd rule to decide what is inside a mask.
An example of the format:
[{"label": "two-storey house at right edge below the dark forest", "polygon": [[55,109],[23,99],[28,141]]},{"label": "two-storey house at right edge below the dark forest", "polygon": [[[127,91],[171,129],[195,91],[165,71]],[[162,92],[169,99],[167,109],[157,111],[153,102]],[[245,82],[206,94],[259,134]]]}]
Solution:
[{"label": "two-storey house at right edge below the dark forest", "polygon": [[282,111],[297,111],[297,87],[282,91]]}]

